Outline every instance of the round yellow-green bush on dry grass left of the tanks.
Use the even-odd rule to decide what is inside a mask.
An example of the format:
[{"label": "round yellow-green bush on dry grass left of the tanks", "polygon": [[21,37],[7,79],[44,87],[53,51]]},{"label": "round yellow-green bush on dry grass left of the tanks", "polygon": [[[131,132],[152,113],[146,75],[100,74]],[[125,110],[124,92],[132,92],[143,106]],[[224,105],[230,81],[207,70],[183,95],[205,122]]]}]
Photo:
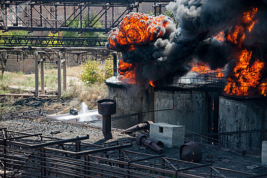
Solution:
[{"label": "round yellow-green bush on dry grass left of the tanks", "polygon": [[97,61],[87,61],[82,66],[82,73],[80,80],[85,84],[95,83],[97,81],[104,81],[104,70],[103,67]]}]

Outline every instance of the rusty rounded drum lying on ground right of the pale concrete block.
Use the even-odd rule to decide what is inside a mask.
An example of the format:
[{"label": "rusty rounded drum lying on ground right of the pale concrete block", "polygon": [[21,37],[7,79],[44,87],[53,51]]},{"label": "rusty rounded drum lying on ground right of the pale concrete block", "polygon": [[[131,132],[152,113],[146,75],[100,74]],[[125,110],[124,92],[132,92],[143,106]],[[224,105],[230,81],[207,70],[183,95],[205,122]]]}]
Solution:
[{"label": "rusty rounded drum lying on ground right of the pale concrete block", "polygon": [[180,159],[190,162],[199,162],[202,160],[202,152],[196,142],[190,141],[180,147]]}]

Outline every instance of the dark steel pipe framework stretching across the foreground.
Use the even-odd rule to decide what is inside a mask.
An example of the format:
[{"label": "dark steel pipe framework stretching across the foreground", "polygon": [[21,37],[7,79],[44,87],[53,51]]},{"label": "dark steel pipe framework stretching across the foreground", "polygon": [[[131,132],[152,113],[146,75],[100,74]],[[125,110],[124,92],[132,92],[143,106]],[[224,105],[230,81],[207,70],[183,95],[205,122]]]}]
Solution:
[{"label": "dark steel pipe framework stretching across the foreground", "polygon": [[[128,151],[133,140],[104,145],[82,142],[89,136],[59,139],[0,129],[1,177],[266,177],[197,164],[164,155]],[[125,142],[126,141],[126,142]],[[122,142],[123,144],[120,144]],[[127,143],[128,142],[128,143]]]}]

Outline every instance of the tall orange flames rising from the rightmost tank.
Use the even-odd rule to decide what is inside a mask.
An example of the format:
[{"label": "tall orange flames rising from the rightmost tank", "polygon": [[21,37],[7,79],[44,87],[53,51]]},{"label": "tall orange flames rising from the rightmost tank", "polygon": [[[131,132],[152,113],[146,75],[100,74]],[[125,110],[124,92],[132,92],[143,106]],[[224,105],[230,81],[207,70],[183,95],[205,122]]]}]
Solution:
[{"label": "tall orange flames rising from the rightmost tank", "polygon": [[[235,26],[226,37],[228,42],[238,45],[239,48],[242,47],[246,33],[252,32],[255,23],[257,23],[257,19],[254,19],[257,11],[257,8],[252,8],[243,14],[240,20],[241,25]],[[248,96],[251,91],[257,91],[257,86],[259,86],[261,95],[265,93],[265,84],[260,84],[265,64],[257,58],[253,58],[252,54],[253,51],[241,50],[235,68],[227,77],[227,84],[224,88],[226,94]]]}]

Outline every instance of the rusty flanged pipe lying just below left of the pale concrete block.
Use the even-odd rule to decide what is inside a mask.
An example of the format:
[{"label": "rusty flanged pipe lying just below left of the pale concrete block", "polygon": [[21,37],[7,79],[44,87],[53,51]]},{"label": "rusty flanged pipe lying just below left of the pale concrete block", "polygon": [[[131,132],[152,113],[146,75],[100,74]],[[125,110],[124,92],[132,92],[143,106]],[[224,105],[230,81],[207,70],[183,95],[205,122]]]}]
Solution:
[{"label": "rusty flanged pipe lying just below left of the pale concrete block", "polygon": [[[153,141],[147,139],[147,136],[144,134],[139,134],[136,137],[136,142],[138,145],[144,145],[146,147],[149,147],[149,149],[153,150],[154,152],[157,152],[158,154],[161,154],[163,152],[163,149],[158,146],[156,143]],[[162,143],[163,144],[163,143]]]}]

